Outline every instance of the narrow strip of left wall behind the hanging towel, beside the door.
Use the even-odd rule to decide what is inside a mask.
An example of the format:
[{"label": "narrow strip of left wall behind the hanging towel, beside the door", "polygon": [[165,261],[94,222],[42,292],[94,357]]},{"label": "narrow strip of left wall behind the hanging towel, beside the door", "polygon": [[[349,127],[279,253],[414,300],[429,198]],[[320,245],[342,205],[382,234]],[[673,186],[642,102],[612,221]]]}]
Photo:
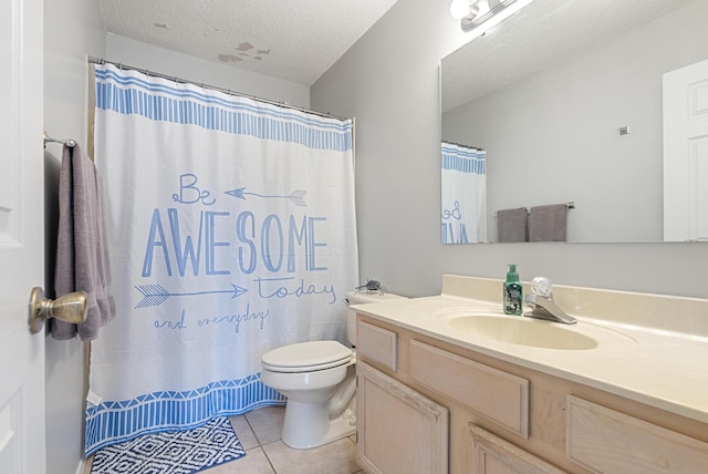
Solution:
[{"label": "narrow strip of left wall behind the hanging towel, beside the door", "polygon": [[[102,55],[103,22],[93,0],[44,1],[44,127],[55,138],[86,144],[86,61]],[[39,137],[38,137],[39,140]],[[59,167],[62,145],[49,144],[45,167],[46,293],[53,295]],[[81,467],[85,399],[84,343],[46,339],[46,472]]]}]

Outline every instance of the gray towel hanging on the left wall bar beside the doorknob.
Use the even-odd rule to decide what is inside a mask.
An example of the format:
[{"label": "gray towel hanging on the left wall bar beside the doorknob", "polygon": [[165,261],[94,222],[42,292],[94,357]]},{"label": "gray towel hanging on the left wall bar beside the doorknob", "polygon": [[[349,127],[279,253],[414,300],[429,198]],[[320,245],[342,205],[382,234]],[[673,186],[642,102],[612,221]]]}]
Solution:
[{"label": "gray towel hanging on the left wall bar beside the doorknob", "polygon": [[54,289],[56,297],[85,291],[87,315],[80,324],[51,319],[54,339],[73,339],[76,333],[83,341],[95,339],[115,316],[103,218],[103,186],[93,162],[79,145],[64,145]]}]

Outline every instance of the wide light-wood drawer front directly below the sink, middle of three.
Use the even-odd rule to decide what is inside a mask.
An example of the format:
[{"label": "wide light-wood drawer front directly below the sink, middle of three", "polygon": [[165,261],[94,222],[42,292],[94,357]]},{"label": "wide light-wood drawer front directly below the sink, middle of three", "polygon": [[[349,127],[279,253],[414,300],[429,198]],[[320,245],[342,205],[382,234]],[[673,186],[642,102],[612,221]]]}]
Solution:
[{"label": "wide light-wood drawer front directly below the sink, middle of three", "polygon": [[410,341],[410,377],[512,432],[529,437],[529,381],[420,341]]}]

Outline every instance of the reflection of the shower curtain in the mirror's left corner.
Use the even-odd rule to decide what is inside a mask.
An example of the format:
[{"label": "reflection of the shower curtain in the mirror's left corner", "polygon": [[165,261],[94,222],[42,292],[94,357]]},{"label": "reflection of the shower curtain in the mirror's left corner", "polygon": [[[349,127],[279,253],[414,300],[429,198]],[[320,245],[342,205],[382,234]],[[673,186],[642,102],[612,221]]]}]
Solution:
[{"label": "reflection of the shower curtain in the mirror's left corner", "polygon": [[487,152],[442,142],[442,244],[487,241]]}]

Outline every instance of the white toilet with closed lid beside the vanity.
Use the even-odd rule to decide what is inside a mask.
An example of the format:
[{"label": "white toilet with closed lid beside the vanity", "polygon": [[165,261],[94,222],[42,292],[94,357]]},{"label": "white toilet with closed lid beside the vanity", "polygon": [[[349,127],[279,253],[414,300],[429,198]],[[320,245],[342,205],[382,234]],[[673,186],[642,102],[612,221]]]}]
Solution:
[{"label": "white toilet with closed lid beside the vanity", "polygon": [[[405,298],[381,291],[351,291],[346,303]],[[356,347],[356,311],[347,308],[346,336]],[[356,432],[356,352],[339,341],[283,346],[261,358],[261,381],[288,398],[282,441],[305,450]]]}]

